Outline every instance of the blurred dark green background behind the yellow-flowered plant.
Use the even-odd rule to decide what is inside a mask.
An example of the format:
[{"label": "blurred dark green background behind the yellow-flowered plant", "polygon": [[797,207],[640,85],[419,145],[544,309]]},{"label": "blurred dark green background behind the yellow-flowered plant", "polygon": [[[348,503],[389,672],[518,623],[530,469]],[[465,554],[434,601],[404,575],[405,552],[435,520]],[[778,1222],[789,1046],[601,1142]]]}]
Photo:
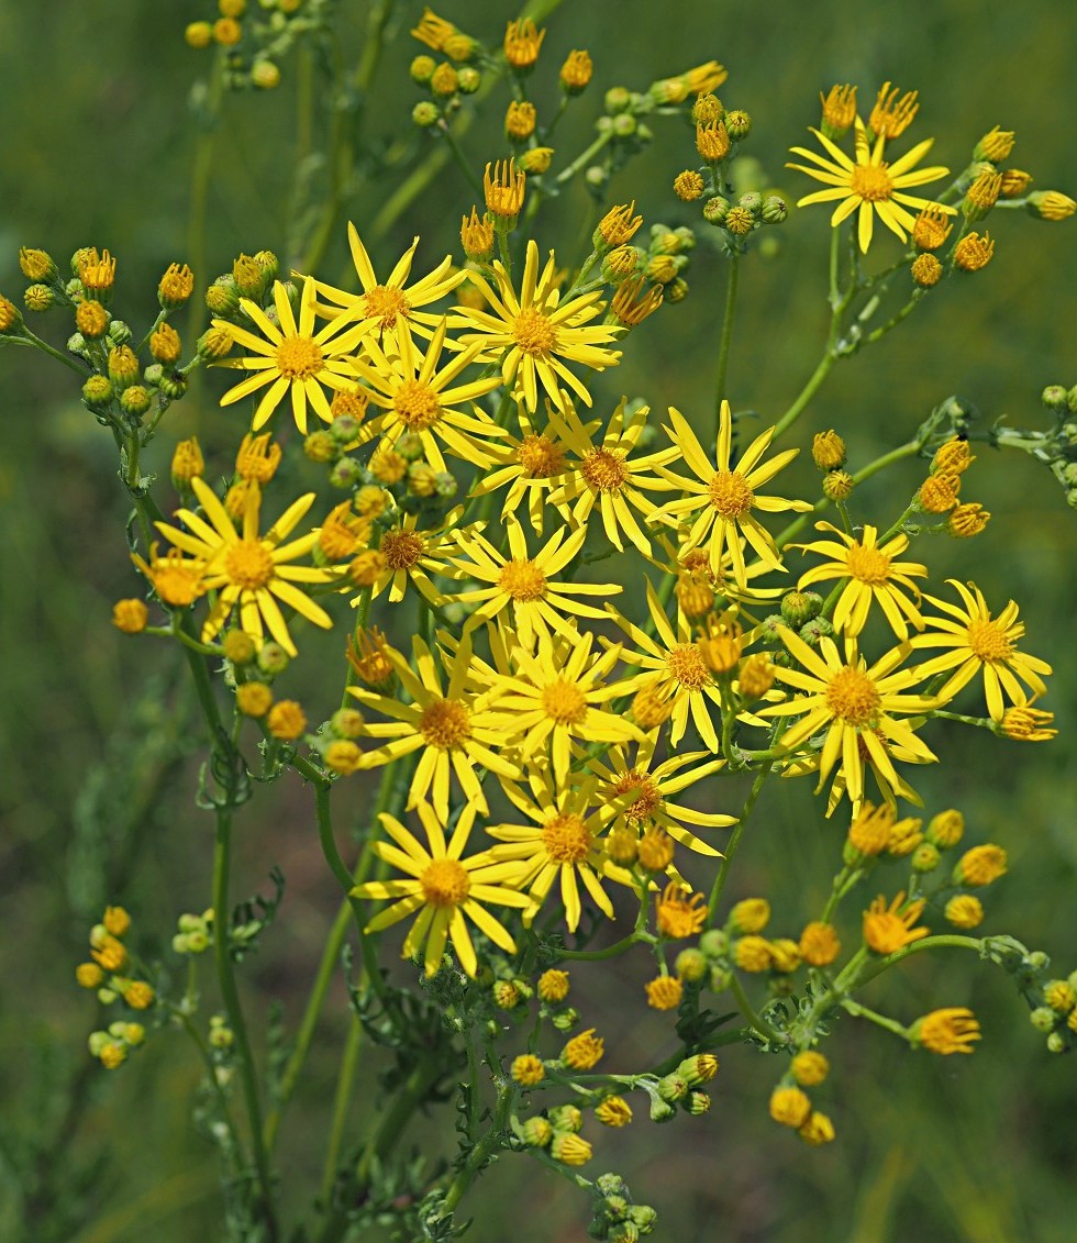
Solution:
[{"label": "blurred dark green background behind the yellow-flowered plant", "polygon": [[[367,6],[342,0],[338,9],[346,53],[356,57]],[[494,4],[439,11],[494,44],[512,16]],[[410,128],[419,94],[407,65],[418,45],[407,32],[419,12],[417,4],[400,4],[388,26],[368,101],[376,144]],[[119,256],[123,313],[149,322],[160,272],[190,257],[196,127],[188,101],[211,53],[187,47],[183,30],[213,16],[208,2],[194,0],[0,2],[0,81],[9,102],[0,290],[9,297],[17,300],[22,287],[20,245],[45,247],[61,264],[77,246],[107,246]],[[892,80],[920,89],[913,137],[936,135],[933,163],[961,167],[980,134],[999,124],[1017,132],[1012,163],[1038,188],[1073,194],[1075,45],[1077,6],[1062,0],[990,10],[973,0],[869,9],[836,0],[755,7],[575,0],[548,22],[534,97],[540,112],[552,106],[563,55],[591,51],[594,82],[558,133],[558,149],[572,153],[589,140],[607,87],[643,89],[718,58],[730,70],[724,102],[754,118],[747,150],[792,200],[807,185],[782,168],[785,153],[817,123],[818,91],[858,82],[867,104],[876,86]],[[276,92],[225,101],[199,285],[230,267],[240,250],[269,247],[295,261],[295,56],[281,67]],[[486,119],[465,139],[476,169],[504,154],[504,103],[496,92]],[[648,222],[696,224],[669,189],[694,162],[690,134],[673,119],[658,118],[653,128],[659,140],[617,174],[611,200],[636,198]],[[306,172],[316,186],[326,175],[317,160]],[[359,179],[347,211],[361,231],[383,200],[381,185]],[[422,232],[420,262],[433,266],[455,251],[471,201],[446,165],[377,244],[376,264],[387,267]],[[540,244],[573,241],[586,205],[578,188],[552,204]],[[990,227],[997,239],[990,267],[950,283],[882,346],[843,363],[798,426],[797,443],[834,426],[853,464],[864,462],[951,393],[974,403],[986,424],[1005,415],[1045,425],[1043,385],[1077,383],[1073,221],[1046,225],[1005,213]],[[810,374],[827,316],[826,210],[793,211],[772,232],[780,254],[754,256],[744,267],[729,384],[735,406],[764,418],[776,416]],[[333,280],[343,270],[342,227],[337,236],[321,268]],[[694,252],[688,278],[689,298],[639,329],[622,367],[599,380],[602,400],[624,392],[705,416],[724,293],[724,271],[708,245]],[[70,328],[56,321],[45,334],[62,346]],[[163,951],[177,914],[206,902],[211,829],[192,805],[198,748],[182,670],[163,649],[126,641],[109,625],[112,602],[134,590],[124,508],[111,440],[78,404],[72,380],[29,351],[0,353],[0,1238],[182,1243],[216,1237],[220,1219],[213,1152],[190,1121],[198,1066],[183,1040],[165,1033],[122,1073],[103,1074],[85,1053],[93,1006],[76,988],[73,967],[88,925],[117,896],[136,914],[146,951]],[[178,408],[158,465],[194,426],[213,446],[221,388],[214,377]],[[231,443],[230,430],[225,439]],[[920,469],[903,464],[872,481],[859,512],[869,520],[898,512]],[[790,490],[816,486],[807,467],[791,477]],[[1077,727],[1077,516],[1047,471],[1015,454],[982,450],[966,492],[994,511],[991,527],[973,542],[931,542],[924,556],[940,577],[974,578],[996,607],[1010,595],[1020,602],[1027,649],[1056,666],[1046,706],[1062,732],[1051,745],[1022,750],[981,732],[938,730],[929,741],[944,762],[917,771],[914,784],[929,812],[961,807],[973,840],[1010,851],[1011,875],[990,895],[986,930],[1045,948],[1065,975],[1077,966],[1077,786],[1068,763]],[[776,911],[788,912],[775,932],[792,932],[822,902],[841,829],[822,823],[801,786],[775,791],[756,815],[734,896],[765,894]],[[265,889],[272,863],[289,876],[279,924],[247,982],[252,1004],[264,1012],[280,994],[294,1019],[336,910],[297,783],[272,812],[259,800],[245,810],[239,849],[238,895]],[[601,1025],[599,1016],[626,1004],[628,989],[634,1013],[645,971],[632,962],[580,972],[577,1004]],[[935,958],[888,981],[874,1001],[905,1021],[934,1006],[973,1006],[985,1033],[975,1057],[912,1055],[877,1029],[844,1021],[827,1048],[838,1142],[812,1150],[766,1116],[776,1064],[737,1049],[724,1059],[708,1117],[664,1130],[640,1120],[603,1134],[594,1171],[617,1168],[638,1199],[658,1208],[659,1238],[1068,1243],[1077,1212],[1072,1060],[1046,1053],[999,972]],[[322,1151],[315,1127],[332,1091],[343,1014],[336,997],[311,1066],[308,1104],[295,1110],[285,1149],[290,1168],[312,1176]],[[668,1040],[670,1027],[649,1012],[614,1039],[617,1025],[609,1024],[608,1060],[626,1068]],[[422,1122],[417,1139],[423,1127],[443,1125],[451,1126],[448,1115]],[[489,1171],[466,1207],[476,1217],[469,1237],[480,1243],[510,1233],[520,1243],[585,1237],[583,1197],[524,1158]]]}]

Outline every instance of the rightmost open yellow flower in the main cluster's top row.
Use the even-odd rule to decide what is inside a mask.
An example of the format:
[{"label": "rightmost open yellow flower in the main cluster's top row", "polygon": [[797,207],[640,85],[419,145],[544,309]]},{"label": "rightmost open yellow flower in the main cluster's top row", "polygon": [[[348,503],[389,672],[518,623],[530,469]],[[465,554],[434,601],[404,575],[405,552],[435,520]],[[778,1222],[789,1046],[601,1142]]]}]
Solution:
[{"label": "rightmost open yellow flower in the main cluster's top row", "polygon": [[604,303],[599,291],[560,301],[557,262],[551,252],[538,275],[538,245],[527,242],[527,257],[519,296],[512,280],[499,260],[494,261],[496,292],[484,276],[468,272],[468,277],[486,298],[490,311],[458,307],[454,328],[471,328],[460,338],[464,344],[480,342],[483,359],[501,359],[501,375],[506,384],[519,380],[529,410],[538,404],[538,384],[558,409],[565,404],[561,385],[571,388],[585,405],[591,394],[566,363],[577,363],[601,372],[621,359],[619,351],[603,348],[614,341],[617,331],[588,321],[602,313]]}]

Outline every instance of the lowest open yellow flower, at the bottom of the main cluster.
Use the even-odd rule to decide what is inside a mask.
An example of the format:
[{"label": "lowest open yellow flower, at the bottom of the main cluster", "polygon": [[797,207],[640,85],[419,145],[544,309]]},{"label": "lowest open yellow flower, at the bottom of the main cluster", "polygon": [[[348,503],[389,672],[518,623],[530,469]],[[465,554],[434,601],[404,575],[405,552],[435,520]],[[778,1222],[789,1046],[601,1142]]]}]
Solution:
[{"label": "lowest open yellow flower, at the bottom of the main cluster", "polygon": [[419,819],[429,849],[394,817],[381,813],[378,819],[392,843],[373,842],[371,850],[407,876],[398,880],[368,880],[352,890],[353,897],[393,899],[392,906],[371,920],[366,932],[379,932],[419,912],[404,938],[403,957],[423,951],[428,976],[437,975],[446,940],[451,941],[464,971],[469,976],[475,975],[478,958],[466,920],[506,953],[516,952],[512,937],[485,909],[485,904],[527,905],[522,894],[504,884],[517,869],[514,864],[492,861],[486,851],[469,859],[461,858],[475,823],[475,812],[474,803],[460,812],[453,837],[446,844],[444,820],[435,815],[429,804],[419,803]]}]

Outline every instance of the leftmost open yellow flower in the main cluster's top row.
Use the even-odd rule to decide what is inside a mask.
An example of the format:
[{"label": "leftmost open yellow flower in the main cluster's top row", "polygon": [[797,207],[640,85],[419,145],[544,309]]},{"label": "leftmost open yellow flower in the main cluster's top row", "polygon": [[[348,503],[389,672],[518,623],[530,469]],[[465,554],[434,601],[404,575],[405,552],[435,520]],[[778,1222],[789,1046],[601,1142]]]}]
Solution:
[{"label": "leftmost open yellow flower in the main cluster's top row", "polygon": [[257,431],[280,405],[285,394],[291,393],[292,416],[296,426],[306,435],[308,404],[325,423],[333,421],[322,385],[330,389],[351,388],[354,383],[351,353],[367,334],[371,324],[348,323],[343,318],[337,318],[315,333],[312,281],[303,283],[298,323],[280,281],[274,282],[274,306],[277,323],[274,323],[250,298],[240,298],[240,307],[262,333],[261,337],[234,323],[213,321],[215,328],[228,329],[238,344],[252,351],[246,358],[228,358],[218,365],[255,373],[230,388],[220,399],[220,404],[231,405],[269,385],[251,420],[251,428]]}]

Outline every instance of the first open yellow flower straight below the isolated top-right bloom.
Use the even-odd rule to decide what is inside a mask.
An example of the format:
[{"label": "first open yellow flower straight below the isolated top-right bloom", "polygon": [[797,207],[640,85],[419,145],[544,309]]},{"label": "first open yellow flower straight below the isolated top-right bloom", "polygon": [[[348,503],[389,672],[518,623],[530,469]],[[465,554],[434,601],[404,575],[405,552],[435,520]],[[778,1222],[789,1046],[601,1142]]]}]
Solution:
[{"label": "first open yellow flower straight below the isolated top-right bloom", "polygon": [[842,541],[816,539],[812,543],[797,544],[805,552],[815,552],[832,559],[815,569],[801,574],[797,590],[803,590],[812,583],[822,583],[831,578],[847,578],[834,605],[833,624],[836,630],[854,639],[864,628],[872,602],[878,603],[885,614],[890,629],[899,639],[909,635],[908,622],[922,630],[924,620],[913,600],[900,589],[919,600],[919,588],[913,577],[927,577],[927,567],[912,561],[894,561],[909,547],[909,537],[897,534],[884,544],[878,542],[878,530],[864,525],[859,538],[847,536],[830,522],[817,522],[817,531],[830,531]]}]

